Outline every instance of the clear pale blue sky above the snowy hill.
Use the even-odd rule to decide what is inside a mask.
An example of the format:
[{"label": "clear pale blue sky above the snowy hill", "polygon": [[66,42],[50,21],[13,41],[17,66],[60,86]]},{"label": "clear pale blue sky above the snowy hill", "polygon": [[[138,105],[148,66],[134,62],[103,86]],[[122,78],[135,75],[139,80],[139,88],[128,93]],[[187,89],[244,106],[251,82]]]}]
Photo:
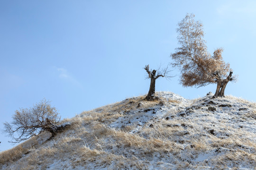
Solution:
[{"label": "clear pale blue sky above the snowy hill", "polygon": [[[0,129],[19,108],[43,98],[62,118],[146,94],[143,69],[166,66],[177,45],[177,23],[194,13],[212,53],[223,47],[237,83],[226,94],[256,101],[255,0],[1,0]],[[187,99],[216,85],[184,88],[178,75],[156,91]],[[0,151],[13,147],[0,134]]]}]

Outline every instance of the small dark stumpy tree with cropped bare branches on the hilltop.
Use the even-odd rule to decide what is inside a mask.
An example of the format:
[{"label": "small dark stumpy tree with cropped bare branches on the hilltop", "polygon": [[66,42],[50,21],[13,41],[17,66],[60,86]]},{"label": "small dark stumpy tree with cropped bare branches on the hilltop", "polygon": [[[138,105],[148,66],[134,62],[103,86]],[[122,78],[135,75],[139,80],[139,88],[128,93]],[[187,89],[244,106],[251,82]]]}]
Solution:
[{"label": "small dark stumpy tree with cropped bare branches on the hilltop", "polygon": [[157,70],[154,69],[153,71],[152,70],[149,71],[149,65],[147,65],[144,69],[148,74],[147,78],[150,78],[150,87],[145,100],[147,101],[157,100],[157,97],[155,96],[155,80],[159,77],[165,77],[165,78],[172,77],[172,76],[168,76],[170,70],[168,70],[168,66],[167,66],[162,71],[160,71],[160,68],[158,68]]}]

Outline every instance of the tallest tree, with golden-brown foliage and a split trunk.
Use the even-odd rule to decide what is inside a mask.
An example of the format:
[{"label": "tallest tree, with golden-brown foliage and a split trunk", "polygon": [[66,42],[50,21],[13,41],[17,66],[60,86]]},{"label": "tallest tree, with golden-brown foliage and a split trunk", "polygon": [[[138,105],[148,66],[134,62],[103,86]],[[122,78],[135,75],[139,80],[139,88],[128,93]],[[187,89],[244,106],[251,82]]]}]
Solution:
[{"label": "tallest tree, with golden-brown foliage and a split trunk", "polygon": [[178,26],[177,39],[181,46],[175,49],[171,58],[172,65],[181,70],[181,84],[200,87],[217,83],[214,97],[224,97],[225,87],[233,79],[229,64],[222,59],[223,49],[219,48],[213,56],[210,55],[203,39],[203,25],[194,20],[193,14],[187,14]]}]

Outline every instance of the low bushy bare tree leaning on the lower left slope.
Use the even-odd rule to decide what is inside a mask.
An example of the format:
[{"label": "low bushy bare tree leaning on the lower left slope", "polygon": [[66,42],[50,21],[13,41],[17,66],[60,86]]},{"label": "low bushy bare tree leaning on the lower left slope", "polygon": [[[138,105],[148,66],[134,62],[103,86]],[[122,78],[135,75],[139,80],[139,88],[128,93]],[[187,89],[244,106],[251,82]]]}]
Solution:
[{"label": "low bushy bare tree leaning on the lower left slope", "polygon": [[44,99],[32,108],[16,110],[12,116],[12,122],[4,123],[4,132],[14,140],[9,141],[11,143],[27,140],[43,131],[51,132],[54,135],[56,124],[60,121],[58,115],[57,109]]}]

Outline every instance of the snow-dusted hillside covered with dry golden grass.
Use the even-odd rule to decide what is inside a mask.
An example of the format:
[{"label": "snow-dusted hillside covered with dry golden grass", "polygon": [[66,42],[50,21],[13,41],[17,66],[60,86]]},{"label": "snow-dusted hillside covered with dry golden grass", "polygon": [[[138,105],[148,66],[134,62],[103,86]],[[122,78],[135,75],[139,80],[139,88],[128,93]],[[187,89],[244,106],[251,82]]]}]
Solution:
[{"label": "snow-dusted hillside covered with dry golden grass", "polygon": [[256,103],[158,92],[82,112],[0,153],[3,170],[255,170]]}]

